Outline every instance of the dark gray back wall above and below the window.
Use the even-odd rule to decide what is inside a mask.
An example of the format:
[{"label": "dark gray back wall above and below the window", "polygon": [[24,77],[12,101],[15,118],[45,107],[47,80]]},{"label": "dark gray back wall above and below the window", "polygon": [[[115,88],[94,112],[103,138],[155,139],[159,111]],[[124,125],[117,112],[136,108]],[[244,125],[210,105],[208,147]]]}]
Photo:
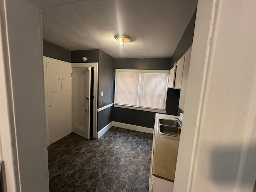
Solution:
[{"label": "dark gray back wall above and below the window", "polygon": [[[115,59],[115,69],[170,70],[170,62],[171,58]],[[167,98],[172,99],[172,96],[167,96]],[[168,101],[168,103],[172,103],[172,100]],[[175,111],[176,115],[177,108],[176,110],[169,109],[169,111]],[[154,128],[155,114],[155,112],[114,107],[112,111],[112,120]]]}]

